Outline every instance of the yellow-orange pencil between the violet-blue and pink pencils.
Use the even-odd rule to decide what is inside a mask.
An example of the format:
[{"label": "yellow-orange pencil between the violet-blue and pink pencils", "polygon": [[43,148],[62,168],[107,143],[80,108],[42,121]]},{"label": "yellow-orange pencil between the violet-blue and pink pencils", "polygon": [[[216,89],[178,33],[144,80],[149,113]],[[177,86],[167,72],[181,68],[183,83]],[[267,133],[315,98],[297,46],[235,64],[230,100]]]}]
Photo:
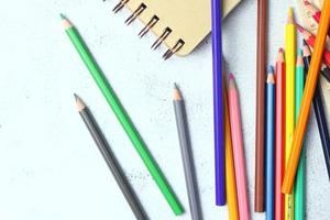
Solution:
[{"label": "yellow-orange pencil between the violet-blue and pink pencils", "polygon": [[[223,80],[224,84],[226,80]],[[228,213],[230,220],[239,219],[239,205],[237,193],[235,168],[232,152],[232,141],[229,122],[229,109],[227,87],[223,86],[223,102],[224,102],[224,141],[226,141],[226,194],[228,204]]]}]

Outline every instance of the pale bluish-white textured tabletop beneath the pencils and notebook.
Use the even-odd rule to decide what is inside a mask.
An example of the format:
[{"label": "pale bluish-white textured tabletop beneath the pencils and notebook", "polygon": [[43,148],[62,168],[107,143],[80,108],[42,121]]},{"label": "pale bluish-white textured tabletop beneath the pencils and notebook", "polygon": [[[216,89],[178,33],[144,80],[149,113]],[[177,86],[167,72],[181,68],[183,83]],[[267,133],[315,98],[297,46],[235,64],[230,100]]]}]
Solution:
[{"label": "pale bluish-white textured tabletop beneath the pencils and notebook", "polygon": [[[284,43],[292,1],[271,1],[270,61]],[[0,218],[109,220],[133,215],[75,109],[77,92],[90,107],[151,219],[187,220],[184,170],[172,105],[176,81],[186,99],[202,212],[227,219],[215,206],[211,43],[185,58],[163,62],[165,48],[140,40],[140,22],[117,1],[4,1],[0,7]],[[134,124],[186,208],[175,218],[61,26],[65,13],[79,29]],[[256,0],[244,0],[226,20],[223,51],[241,90],[251,210],[254,200]],[[330,185],[312,116],[307,138],[307,218],[330,219]],[[264,219],[254,213],[253,219]]]}]

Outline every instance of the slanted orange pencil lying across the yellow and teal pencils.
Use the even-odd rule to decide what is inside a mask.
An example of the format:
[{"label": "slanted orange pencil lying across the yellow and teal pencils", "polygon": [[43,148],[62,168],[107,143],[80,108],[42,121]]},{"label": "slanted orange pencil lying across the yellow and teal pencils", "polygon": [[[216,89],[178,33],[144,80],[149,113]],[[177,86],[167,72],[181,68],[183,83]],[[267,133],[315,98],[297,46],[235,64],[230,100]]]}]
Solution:
[{"label": "slanted orange pencil lying across the yellow and teal pencils", "polygon": [[302,141],[305,138],[309,110],[310,110],[315,88],[317,86],[318,73],[321,66],[322,53],[326,45],[329,23],[330,23],[330,1],[324,1],[320,24],[318,29],[318,34],[316,38],[316,44],[315,44],[315,51],[311,57],[310,67],[306,79],[306,86],[302,95],[300,112],[296,124],[296,130],[293,136],[292,152],[284,175],[282,191],[286,194],[292,191],[295,182],[296,172],[300,158],[300,152],[302,148]]}]

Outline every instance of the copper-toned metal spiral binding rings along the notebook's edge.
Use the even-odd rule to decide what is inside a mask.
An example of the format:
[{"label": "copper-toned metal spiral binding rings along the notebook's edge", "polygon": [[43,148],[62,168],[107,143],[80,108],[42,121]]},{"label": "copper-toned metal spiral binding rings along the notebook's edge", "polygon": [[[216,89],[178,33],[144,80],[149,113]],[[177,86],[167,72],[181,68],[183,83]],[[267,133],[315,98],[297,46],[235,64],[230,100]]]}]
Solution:
[{"label": "copper-toned metal spiral binding rings along the notebook's edge", "polygon": [[[103,0],[105,1],[105,0]],[[114,8],[113,12],[119,12],[130,0],[121,0]],[[141,3],[140,7],[125,20],[125,24],[130,25],[144,10],[146,9],[146,6],[144,3]],[[160,21],[160,18],[154,15],[147,24],[141,30],[141,32],[138,34],[141,38]],[[172,30],[167,26],[162,35],[153,43],[151,46],[152,50],[158,48],[158,46],[166,40],[166,37],[172,33]],[[163,55],[163,58],[166,61],[169,57],[172,57],[175,53],[177,53],[183,46],[185,42],[179,38],[176,44],[166,51],[166,53]]]}]

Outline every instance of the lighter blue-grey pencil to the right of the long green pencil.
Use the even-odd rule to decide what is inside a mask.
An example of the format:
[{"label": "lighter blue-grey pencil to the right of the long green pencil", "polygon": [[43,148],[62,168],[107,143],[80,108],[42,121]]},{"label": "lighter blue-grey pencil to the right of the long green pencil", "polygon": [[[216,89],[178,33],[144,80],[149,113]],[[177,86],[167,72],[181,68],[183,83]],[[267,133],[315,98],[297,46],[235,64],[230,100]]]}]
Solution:
[{"label": "lighter blue-grey pencil to the right of the long green pencil", "polygon": [[177,131],[179,136],[182,157],[184,163],[191,220],[200,220],[201,209],[199,205],[199,196],[198,196],[196,174],[194,168],[186,110],[185,110],[185,105],[184,105],[182,94],[176,85],[173,95],[174,95],[173,103],[175,109],[175,118],[176,118]]}]

